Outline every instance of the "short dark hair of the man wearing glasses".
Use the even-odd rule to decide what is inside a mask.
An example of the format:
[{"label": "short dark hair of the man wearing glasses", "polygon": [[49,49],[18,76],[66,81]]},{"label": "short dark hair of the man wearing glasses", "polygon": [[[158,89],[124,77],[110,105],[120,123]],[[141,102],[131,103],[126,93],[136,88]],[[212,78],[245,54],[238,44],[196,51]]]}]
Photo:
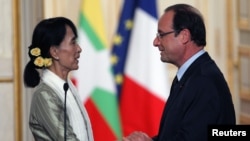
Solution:
[{"label": "short dark hair of the man wearing glasses", "polygon": [[198,46],[206,46],[206,28],[200,12],[187,4],[176,4],[165,9],[174,11],[173,29],[178,35],[181,30],[188,29],[193,40]]}]

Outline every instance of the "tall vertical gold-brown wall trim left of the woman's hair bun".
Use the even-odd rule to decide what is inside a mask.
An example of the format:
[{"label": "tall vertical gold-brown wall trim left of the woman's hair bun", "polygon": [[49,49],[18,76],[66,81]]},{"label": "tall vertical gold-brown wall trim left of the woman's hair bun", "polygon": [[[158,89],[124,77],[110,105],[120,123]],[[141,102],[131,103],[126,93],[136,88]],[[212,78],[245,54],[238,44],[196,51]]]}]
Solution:
[{"label": "tall vertical gold-brown wall trim left of the woman's hair bun", "polygon": [[13,0],[12,8],[13,23],[13,65],[14,65],[14,117],[15,117],[15,141],[22,141],[22,88],[21,84],[21,50],[20,50],[20,3],[19,0]]}]

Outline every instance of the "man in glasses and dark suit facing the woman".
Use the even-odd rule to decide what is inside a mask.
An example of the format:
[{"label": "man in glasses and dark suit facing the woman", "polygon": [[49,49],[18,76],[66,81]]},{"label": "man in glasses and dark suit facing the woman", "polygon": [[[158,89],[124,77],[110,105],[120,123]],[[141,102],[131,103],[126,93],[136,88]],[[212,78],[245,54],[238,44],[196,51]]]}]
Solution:
[{"label": "man in glasses and dark suit facing the woman", "polygon": [[166,8],[153,44],[161,61],[178,68],[177,75],[158,135],[150,138],[136,131],[123,141],[206,141],[208,125],[235,124],[227,82],[204,50],[206,30],[197,9],[187,4]]}]

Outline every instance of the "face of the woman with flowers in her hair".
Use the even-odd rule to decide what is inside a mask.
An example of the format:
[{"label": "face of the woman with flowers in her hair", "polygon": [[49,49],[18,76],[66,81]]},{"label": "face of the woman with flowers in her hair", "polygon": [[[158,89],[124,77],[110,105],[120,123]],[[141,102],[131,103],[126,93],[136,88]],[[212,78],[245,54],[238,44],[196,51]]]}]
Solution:
[{"label": "face of the woman with flowers in her hair", "polygon": [[66,35],[58,48],[58,62],[63,70],[78,69],[78,59],[82,49],[76,41],[76,36],[69,26],[66,26]]}]

